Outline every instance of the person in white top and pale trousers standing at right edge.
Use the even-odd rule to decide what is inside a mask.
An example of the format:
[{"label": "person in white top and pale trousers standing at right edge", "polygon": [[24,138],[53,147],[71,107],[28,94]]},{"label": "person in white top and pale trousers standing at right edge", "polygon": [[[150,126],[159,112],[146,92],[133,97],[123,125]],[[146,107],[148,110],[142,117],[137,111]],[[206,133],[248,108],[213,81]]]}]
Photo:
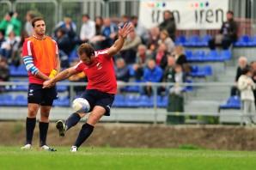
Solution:
[{"label": "person in white top and pale trousers standing at right edge", "polygon": [[238,79],[238,88],[241,91],[242,110],[245,114],[243,123],[250,125],[255,123],[255,105],[253,89],[256,88],[252,79],[250,67],[241,70],[241,76]]}]

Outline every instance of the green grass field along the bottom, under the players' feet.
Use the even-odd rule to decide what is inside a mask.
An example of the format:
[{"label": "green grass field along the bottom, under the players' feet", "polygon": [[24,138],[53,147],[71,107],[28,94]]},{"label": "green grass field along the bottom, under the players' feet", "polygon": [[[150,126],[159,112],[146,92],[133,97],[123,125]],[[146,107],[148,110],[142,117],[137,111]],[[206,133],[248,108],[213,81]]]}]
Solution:
[{"label": "green grass field along the bottom, under the players' feet", "polygon": [[81,148],[70,153],[0,147],[0,169],[256,169],[256,152],[204,149]]}]

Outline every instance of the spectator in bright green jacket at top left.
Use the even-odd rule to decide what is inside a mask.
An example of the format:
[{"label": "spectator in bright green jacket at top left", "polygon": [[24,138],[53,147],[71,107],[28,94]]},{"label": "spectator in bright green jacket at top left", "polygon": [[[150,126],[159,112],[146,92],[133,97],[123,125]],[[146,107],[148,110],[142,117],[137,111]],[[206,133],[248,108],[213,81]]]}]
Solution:
[{"label": "spectator in bright green jacket at top left", "polygon": [[17,19],[18,13],[9,12],[0,22],[0,29],[3,29],[5,36],[8,37],[10,32],[14,32],[15,36],[21,35],[21,21]]}]

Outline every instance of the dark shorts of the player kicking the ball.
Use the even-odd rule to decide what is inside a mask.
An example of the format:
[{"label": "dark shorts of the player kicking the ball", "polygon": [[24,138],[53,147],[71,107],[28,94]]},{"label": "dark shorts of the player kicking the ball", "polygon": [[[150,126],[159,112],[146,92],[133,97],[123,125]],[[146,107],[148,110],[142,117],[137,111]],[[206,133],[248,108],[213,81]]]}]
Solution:
[{"label": "dark shorts of the player kicking the ball", "polygon": [[114,94],[107,94],[99,90],[89,89],[82,93],[82,98],[88,100],[91,112],[94,106],[102,106],[105,108],[105,116],[110,116],[110,108],[113,104]]}]

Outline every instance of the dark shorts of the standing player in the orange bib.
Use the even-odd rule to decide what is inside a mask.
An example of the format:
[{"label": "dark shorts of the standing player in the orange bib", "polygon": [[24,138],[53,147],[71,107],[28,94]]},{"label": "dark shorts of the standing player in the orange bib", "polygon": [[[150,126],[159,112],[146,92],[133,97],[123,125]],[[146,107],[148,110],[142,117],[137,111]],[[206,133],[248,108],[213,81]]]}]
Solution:
[{"label": "dark shorts of the standing player in the orange bib", "polygon": [[57,99],[56,87],[43,88],[40,84],[29,84],[27,91],[27,103],[37,103],[41,106],[52,106]]}]

